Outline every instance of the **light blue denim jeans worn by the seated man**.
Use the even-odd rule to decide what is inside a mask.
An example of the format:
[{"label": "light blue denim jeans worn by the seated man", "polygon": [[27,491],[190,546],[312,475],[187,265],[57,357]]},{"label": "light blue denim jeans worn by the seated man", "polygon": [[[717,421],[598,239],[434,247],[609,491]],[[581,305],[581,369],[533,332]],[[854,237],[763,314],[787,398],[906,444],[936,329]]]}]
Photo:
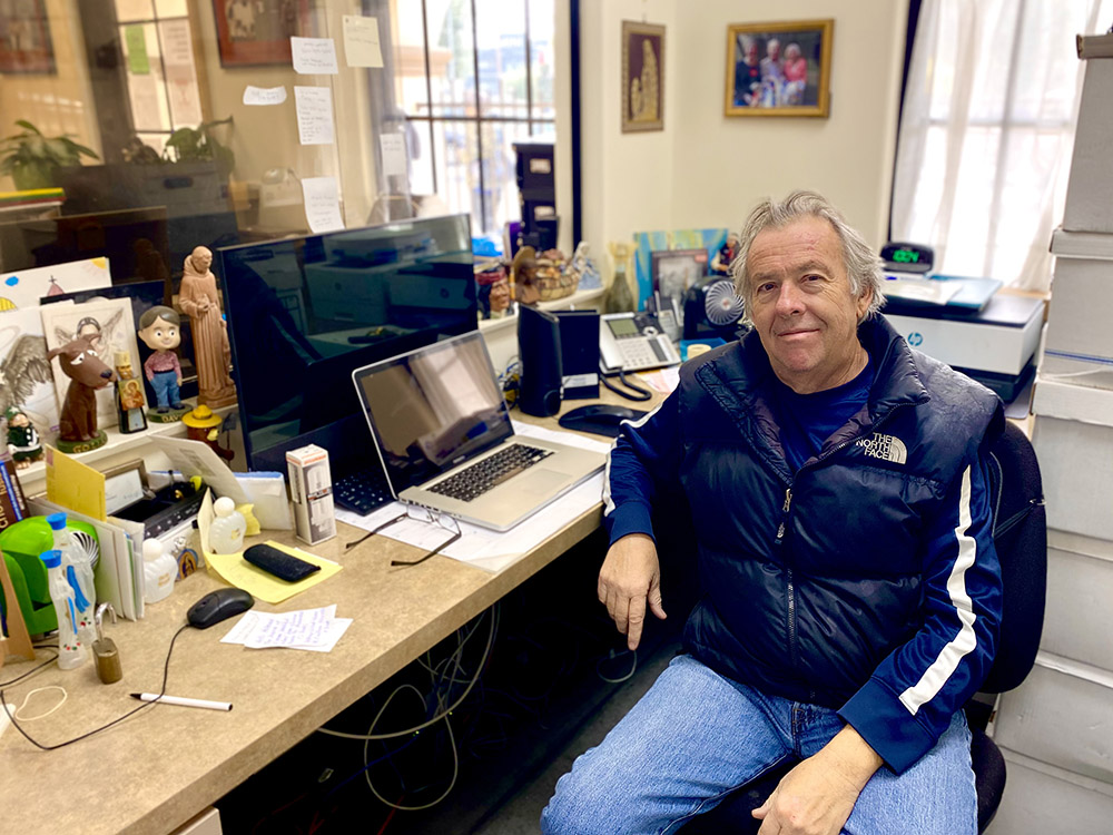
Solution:
[{"label": "light blue denim jeans worn by the seated man", "polygon": [[[558,780],[541,832],[673,833],[787,757],[816,754],[843,726],[830,708],[764,696],[679,656]],[[899,777],[881,766],[843,832],[974,835],[969,743],[959,710],[938,744]]]}]

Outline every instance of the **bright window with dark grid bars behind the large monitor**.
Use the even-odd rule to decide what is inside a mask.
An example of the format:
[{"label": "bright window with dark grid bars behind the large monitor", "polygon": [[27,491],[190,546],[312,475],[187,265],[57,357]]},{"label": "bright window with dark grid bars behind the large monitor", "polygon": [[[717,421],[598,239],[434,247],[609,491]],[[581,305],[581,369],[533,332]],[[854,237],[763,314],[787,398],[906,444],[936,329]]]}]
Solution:
[{"label": "bright window with dark grid bars behind the large monitor", "polygon": [[555,134],[553,0],[396,0],[392,16],[411,189],[498,235],[520,217],[513,143]]}]

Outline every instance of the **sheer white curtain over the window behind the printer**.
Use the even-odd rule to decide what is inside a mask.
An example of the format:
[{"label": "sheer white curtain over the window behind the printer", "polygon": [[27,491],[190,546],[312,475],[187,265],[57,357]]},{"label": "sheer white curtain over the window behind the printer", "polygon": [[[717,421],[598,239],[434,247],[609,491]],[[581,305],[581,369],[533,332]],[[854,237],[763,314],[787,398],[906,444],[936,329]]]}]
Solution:
[{"label": "sheer white curtain over the window behind the printer", "polygon": [[1083,61],[1113,0],[924,0],[902,111],[893,238],[935,272],[1051,284]]}]

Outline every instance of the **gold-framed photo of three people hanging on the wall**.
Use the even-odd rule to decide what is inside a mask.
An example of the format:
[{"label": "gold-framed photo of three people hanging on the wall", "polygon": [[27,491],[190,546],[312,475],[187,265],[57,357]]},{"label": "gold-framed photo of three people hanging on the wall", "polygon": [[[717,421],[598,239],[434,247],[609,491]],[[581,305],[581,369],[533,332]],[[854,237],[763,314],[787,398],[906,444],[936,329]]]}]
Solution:
[{"label": "gold-framed photo of three people hanging on the wall", "polygon": [[727,27],[727,116],[820,116],[830,111],[834,20]]}]

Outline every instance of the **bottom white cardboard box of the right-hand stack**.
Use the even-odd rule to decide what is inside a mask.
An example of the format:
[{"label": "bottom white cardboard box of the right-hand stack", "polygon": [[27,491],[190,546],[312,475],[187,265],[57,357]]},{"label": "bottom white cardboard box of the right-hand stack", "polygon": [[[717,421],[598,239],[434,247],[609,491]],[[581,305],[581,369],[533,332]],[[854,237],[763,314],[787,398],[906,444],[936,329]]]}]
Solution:
[{"label": "bottom white cardboard box of the right-hand stack", "polygon": [[1113,786],[1002,749],[1007,779],[986,835],[1097,835],[1113,822]]}]

